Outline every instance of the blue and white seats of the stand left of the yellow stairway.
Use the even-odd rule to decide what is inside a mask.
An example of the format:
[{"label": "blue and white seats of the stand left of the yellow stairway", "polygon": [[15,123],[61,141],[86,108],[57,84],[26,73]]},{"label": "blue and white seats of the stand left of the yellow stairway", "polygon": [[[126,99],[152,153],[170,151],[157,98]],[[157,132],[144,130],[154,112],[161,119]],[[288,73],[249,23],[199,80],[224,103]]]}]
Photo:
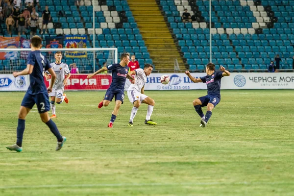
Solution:
[{"label": "blue and white seats of the stand left of the yellow stairway", "polygon": [[[51,12],[51,23],[48,25],[48,33],[43,31],[44,34],[37,34],[43,38],[45,42],[46,36],[62,35],[75,35],[87,34],[87,48],[118,48],[119,55],[122,52],[130,52],[135,54],[140,66],[143,67],[144,63],[153,64],[150,59],[149,52],[145,46],[145,41],[142,39],[140,30],[135,22],[132,12],[126,0],[96,0],[95,1],[95,43],[93,41],[93,6],[91,0],[80,0],[79,6],[74,5],[74,0],[40,0],[40,10],[45,10],[45,6],[49,6]],[[22,10],[25,7],[22,8]],[[37,7],[36,7],[37,8]],[[39,27],[42,26],[42,12],[39,13]],[[63,16],[60,16],[60,12]],[[60,24],[59,28],[54,28],[56,24]],[[6,25],[1,24],[1,31],[4,37],[10,37],[7,34]],[[30,30],[27,30],[27,35],[21,35],[25,39],[30,38]],[[37,32],[39,33],[39,31]],[[17,36],[17,32],[12,35]],[[45,48],[45,43],[43,43]],[[91,61],[93,61],[93,54],[89,55],[87,59],[69,59],[65,56],[64,61],[67,64],[76,62],[81,72],[93,72]],[[19,69],[25,67],[23,60],[0,60],[0,70],[16,70],[9,65],[17,65]],[[15,62],[12,62],[15,61]],[[103,62],[111,63],[112,58],[109,56],[108,51],[96,53],[97,68]],[[99,65],[99,66],[98,66]]]}]

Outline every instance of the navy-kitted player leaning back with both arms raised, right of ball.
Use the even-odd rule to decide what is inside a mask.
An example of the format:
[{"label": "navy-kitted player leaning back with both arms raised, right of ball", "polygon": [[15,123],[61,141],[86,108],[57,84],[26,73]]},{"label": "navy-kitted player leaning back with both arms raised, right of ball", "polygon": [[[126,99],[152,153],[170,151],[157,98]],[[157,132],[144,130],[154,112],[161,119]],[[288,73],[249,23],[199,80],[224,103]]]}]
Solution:
[{"label": "navy-kitted player leaning back with both arms raised, right of ball", "polygon": [[[206,65],[206,76],[195,78],[189,71],[185,73],[193,82],[203,82],[207,85],[207,96],[197,98],[193,101],[194,108],[198,115],[201,117],[200,127],[205,127],[209,118],[212,115],[212,109],[221,101],[221,78],[229,76],[231,73],[220,67],[221,71],[215,71],[215,65],[208,63]],[[207,112],[204,116],[201,107],[207,106]]]}]

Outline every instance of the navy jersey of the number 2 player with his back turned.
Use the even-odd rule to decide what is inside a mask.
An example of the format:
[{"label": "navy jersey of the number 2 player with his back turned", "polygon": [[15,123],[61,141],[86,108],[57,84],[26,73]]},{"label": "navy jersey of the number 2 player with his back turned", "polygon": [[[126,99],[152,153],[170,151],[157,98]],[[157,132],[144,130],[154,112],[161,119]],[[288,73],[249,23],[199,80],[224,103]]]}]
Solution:
[{"label": "navy jersey of the number 2 player with his back turned", "polygon": [[29,75],[30,85],[27,93],[36,95],[47,93],[47,88],[44,82],[43,70],[51,68],[48,59],[41,54],[40,50],[31,51],[27,55],[27,64],[34,66],[33,72]]}]

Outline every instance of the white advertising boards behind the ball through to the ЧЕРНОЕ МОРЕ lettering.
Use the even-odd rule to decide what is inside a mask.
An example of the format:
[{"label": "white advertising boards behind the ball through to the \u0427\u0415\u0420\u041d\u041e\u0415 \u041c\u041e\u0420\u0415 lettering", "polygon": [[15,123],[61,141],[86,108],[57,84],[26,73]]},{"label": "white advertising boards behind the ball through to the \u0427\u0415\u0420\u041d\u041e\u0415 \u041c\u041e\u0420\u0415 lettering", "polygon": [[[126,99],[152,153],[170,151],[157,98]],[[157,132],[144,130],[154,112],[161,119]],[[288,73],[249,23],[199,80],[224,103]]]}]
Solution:
[{"label": "white advertising boards behind the ball through to the \u0427\u0415\u0420\u041d\u041e\u0415 \u041c\u041e\u0420\u0415 lettering", "polygon": [[[171,81],[164,85],[160,76],[167,74]],[[206,73],[191,73],[202,77]],[[194,83],[185,73],[151,73],[145,90],[196,90],[207,89],[205,83]],[[294,73],[231,73],[221,79],[221,89],[294,89]]]}]

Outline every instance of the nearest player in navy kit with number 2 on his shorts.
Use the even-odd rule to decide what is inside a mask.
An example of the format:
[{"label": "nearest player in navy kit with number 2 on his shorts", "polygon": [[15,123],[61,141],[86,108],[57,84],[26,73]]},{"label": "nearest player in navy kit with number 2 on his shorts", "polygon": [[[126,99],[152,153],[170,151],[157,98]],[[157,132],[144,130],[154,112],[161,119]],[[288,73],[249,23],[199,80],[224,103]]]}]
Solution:
[{"label": "nearest player in navy kit with number 2 on his shorts", "polygon": [[[36,104],[40,117],[44,123],[46,123],[50,131],[57,138],[57,147],[55,150],[60,150],[66,141],[65,137],[62,137],[57,129],[56,124],[50,119],[48,111],[50,110],[48,93],[51,92],[56,74],[50,66],[49,61],[45,56],[41,54],[42,39],[39,36],[34,36],[31,39],[31,52],[27,55],[27,67],[22,72],[14,72],[13,76],[29,74],[30,85],[25,93],[25,97],[21,104],[21,109],[18,115],[17,126],[17,141],[16,144],[6,147],[9,150],[15,150],[21,152],[23,150],[22,142],[25,131],[25,117]],[[43,69],[47,70],[51,74],[51,83],[46,89]]]}]

